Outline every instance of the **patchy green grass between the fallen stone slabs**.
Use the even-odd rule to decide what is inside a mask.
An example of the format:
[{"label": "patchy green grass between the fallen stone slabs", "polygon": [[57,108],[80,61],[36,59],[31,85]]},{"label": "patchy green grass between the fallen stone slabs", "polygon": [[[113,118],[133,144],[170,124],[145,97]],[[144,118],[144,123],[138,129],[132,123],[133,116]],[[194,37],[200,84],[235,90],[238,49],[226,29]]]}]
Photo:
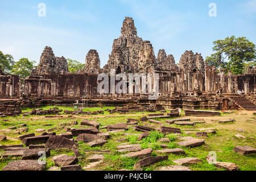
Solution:
[{"label": "patchy green grass between the fallen stone slabs", "polygon": [[[42,107],[43,109],[49,109],[53,106],[46,106]],[[61,107],[59,106],[59,109],[63,110],[73,110],[72,107]],[[93,111],[93,110],[105,110],[105,109],[114,109],[114,107],[93,107],[84,109],[84,111]],[[23,111],[30,111],[32,109],[24,109]],[[72,121],[78,121],[79,123],[84,119],[92,119],[94,121],[100,122],[101,126],[107,126],[109,124],[113,123],[119,123],[119,122],[126,122],[127,118],[135,118],[139,119],[143,115],[146,115],[148,113],[136,113],[136,114],[109,114],[108,112],[104,112],[104,114],[98,114],[98,115],[73,115],[73,117],[68,117],[68,115],[65,115],[64,113],[61,113],[63,115],[63,118],[46,118],[44,115],[30,115],[27,117],[23,117],[22,114],[20,116],[16,117],[6,117],[0,119],[0,130],[2,129],[8,129],[8,127],[16,126],[18,128],[19,124],[26,123],[28,127],[27,133],[35,133],[35,135],[40,135],[40,133],[36,133],[36,129],[45,129],[46,131],[48,129],[52,128],[59,128],[58,123],[71,123]],[[183,113],[184,114],[184,113]],[[249,155],[249,156],[243,156],[240,154],[237,154],[236,152],[233,152],[233,148],[238,145],[247,145],[256,148],[256,142],[255,142],[255,123],[249,122],[248,119],[254,119],[256,115],[253,115],[253,111],[236,111],[232,114],[225,114],[221,113],[221,116],[216,117],[189,117],[191,118],[191,121],[199,121],[200,119],[204,119],[205,123],[197,123],[194,126],[176,126],[174,124],[168,125],[164,123],[165,119],[156,119],[158,121],[163,122],[165,126],[169,127],[179,127],[181,131],[184,130],[197,130],[200,128],[205,127],[214,127],[217,129],[216,135],[209,135],[207,138],[203,138],[205,140],[205,144],[203,146],[194,147],[194,148],[188,148],[188,147],[181,147],[186,155],[173,155],[170,154],[168,160],[160,163],[153,164],[151,166],[143,167],[144,170],[150,171],[155,170],[158,167],[161,166],[170,166],[170,165],[177,165],[172,160],[184,158],[184,157],[195,157],[203,160],[202,163],[191,165],[193,170],[195,171],[214,171],[214,170],[220,170],[214,167],[213,165],[209,164],[205,156],[209,154],[210,151],[215,151],[217,154],[217,161],[220,162],[232,162],[236,163],[238,167],[240,167],[240,170],[247,171],[247,170],[256,170],[256,158],[255,155]],[[218,121],[228,119],[228,118],[234,118],[234,123],[225,123],[220,124]],[[3,119],[8,119],[8,121],[3,121]],[[155,127],[160,127],[159,125],[155,125],[152,123],[147,122],[148,125],[152,125]],[[51,124],[51,126],[42,126],[45,124]],[[141,124],[140,124],[141,125]],[[75,127],[78,128],[80,125],[73,125],[69,127]],[[108,143],[106,143],[102,147],[95,147],[90,148],[86,143],[79,142],[79,151],[82,154],[82,156],[79,157],[79,164],[81,164],[81,167],[84,167],[89,164],[87,158],[90,155],[96,154],[96,152],[84,152],[85,150],[98,150],[98,149],[105,149],[105,150],[111,150],[108,154],[103,154],[105,156],[104,163],[98,165],[96,168],[97,170],[119,170],[119,169],[133,169],[133,165],[135,162],[137,162],[138,159],[128,159],[128,158],[121,158],[122,154],[125,153],[119,153],[116,151],[116,146],[121,143],[129,142],[131,144],[139,143],[141,144],[142,148],[151,147],[154,150],[161,149],[160,143],[156,142],[151,138],[144,139],[141,141],[138,141],[138,135],[141,134],[139,131],[135,131],[132,126],[129,126],[130,129],[121,132],[121,133],[113,133],[111,134],[112,138],[108,140]],[[237,129],[242,129],[245,132],[240,132]],[[101,130],[102,132],[106,132],[106,129]],[[66,131],[64,129],[56,129],[56,134],[65,133]],[[20,133],[25,134],[25,133]],[[241,134],[245,136],[245,139],[237,139],[234,137],[234,135]],[[0,144],[2,145],[8,145],[8,144],[20,144],[22,143],[20,140],[18,140],[18,134],[5,134],[7,136],[7,140],[1,141]],[[195,137],[195,134],[187,135],[182,134],[183,136],[192,136]],[[163,136],[160,136],[163,137]],[[168,138],[170,138],[172,141],[170,143],[166,143],[169,148],[175,148],[178,147],[175,139],[176,137],[174,135],[168,135]],[[118,139],[125,138],[126,141],[124,142],[117,142]],[[150,141],[150,142],[148,142]],[[179,147],[180,148],[180,147]],[[1,151],[0,151],[1,152]],[[72,150],[51,150],[51,156],[47,158],[47,167],[54,166],[54,163],[52,161],[52,156],[58,155],[58,154],[67,154],[67,155],[73,155]],[[160,154],[157,154],[160,155]],[[164,155],[164,154],[162,154]],[[152,156],[156,156],[156,153],[153,151]],[[0,170],[6,166],[7,163],[11,162],[12,160],[18,160],[20,158],[17,157],[11,157],[8,158],[0,158]]]}]

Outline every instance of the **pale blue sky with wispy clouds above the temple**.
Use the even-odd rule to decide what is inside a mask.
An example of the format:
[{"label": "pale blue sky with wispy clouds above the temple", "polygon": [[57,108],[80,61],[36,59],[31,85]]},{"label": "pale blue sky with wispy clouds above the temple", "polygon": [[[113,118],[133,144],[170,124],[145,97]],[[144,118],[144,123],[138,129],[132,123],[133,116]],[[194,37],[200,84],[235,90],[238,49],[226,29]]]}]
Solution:
[{"label": "pale blue sky with wispy clouds above the temple", "polygon": [[[46,5],[45,17],[38,16],[39,3]],[[208,15],[209,3],[216,3],[216,17]],[[150,40],[156,56],[165,49],[176,63],[185,50],[205,58],[212,42],[227,36],[256,43],[256,0],[1,0],[0,51],[39,63],[50,46],[55,56],[85,63],[89,49],[97,49],[103,67],[125,16],[134,19],[138,36]]]}]

